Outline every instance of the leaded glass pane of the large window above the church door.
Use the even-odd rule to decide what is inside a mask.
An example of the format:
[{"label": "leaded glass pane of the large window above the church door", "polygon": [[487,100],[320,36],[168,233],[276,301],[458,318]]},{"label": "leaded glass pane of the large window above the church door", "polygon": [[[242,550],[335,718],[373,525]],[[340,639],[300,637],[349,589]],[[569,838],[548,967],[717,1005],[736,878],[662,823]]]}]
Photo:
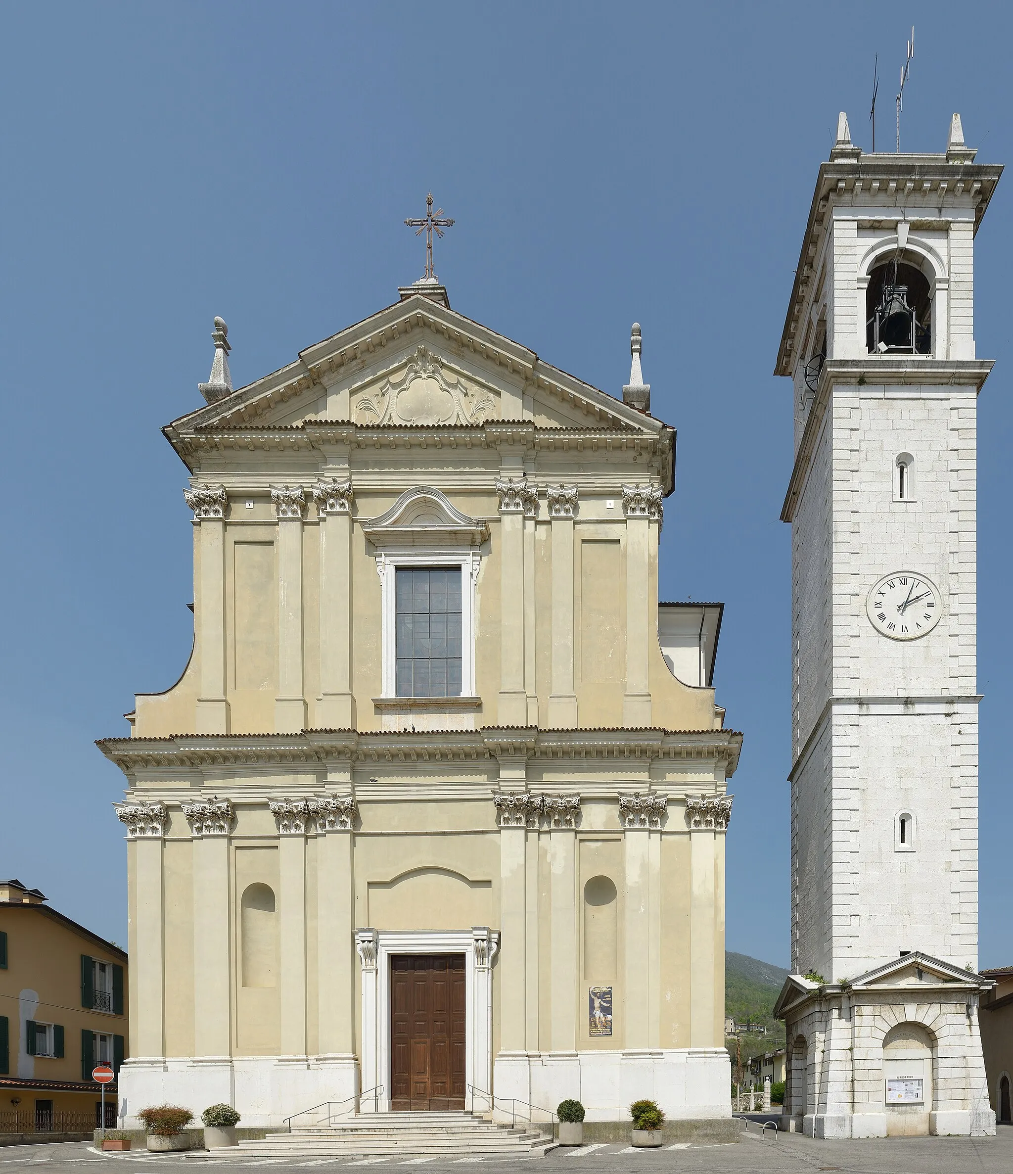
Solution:
[{"label": "leaded glass pane of the large window above the church door", "polygon": [[398,567],[394,579],[399,697],[461,693],[461,568]]}]

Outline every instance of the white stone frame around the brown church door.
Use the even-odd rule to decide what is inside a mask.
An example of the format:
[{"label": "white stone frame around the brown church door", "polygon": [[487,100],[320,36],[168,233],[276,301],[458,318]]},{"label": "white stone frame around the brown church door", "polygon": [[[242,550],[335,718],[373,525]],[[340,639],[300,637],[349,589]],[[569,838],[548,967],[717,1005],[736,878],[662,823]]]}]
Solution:
[{"label": "white stone frame around the brown church door", "polygon": [[391,1107],[391,954],[465,956],[465,1082],[492,1087],[492,959],[499,933],[484,925],[461,931],[356,930],[362,962],[362,1087],[383,1085],[381,1113]]}]

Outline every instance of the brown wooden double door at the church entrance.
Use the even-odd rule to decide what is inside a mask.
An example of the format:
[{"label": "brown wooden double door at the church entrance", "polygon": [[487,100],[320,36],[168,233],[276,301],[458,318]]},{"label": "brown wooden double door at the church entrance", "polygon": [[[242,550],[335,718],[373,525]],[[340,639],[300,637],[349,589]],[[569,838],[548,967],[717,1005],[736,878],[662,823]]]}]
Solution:
[{"label": "brown wooden double door at the church entrance", "polygon": [[465,1107],[465,956],[391,957],[391,1108]]}]

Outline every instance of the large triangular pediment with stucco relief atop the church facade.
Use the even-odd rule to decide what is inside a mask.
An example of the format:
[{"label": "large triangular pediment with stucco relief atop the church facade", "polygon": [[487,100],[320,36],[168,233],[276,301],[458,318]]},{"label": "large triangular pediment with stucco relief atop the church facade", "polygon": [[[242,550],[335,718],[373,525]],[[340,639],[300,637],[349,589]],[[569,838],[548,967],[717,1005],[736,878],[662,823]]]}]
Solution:
[{"label": "large triangular pediment with stucco relief atop the church facade", "polygon": [[656,434],[662,424],[546,363],[526,346],[421,295],[299,353],[295,363],[175,420],[177,432],[285,427],[546,429]]}]

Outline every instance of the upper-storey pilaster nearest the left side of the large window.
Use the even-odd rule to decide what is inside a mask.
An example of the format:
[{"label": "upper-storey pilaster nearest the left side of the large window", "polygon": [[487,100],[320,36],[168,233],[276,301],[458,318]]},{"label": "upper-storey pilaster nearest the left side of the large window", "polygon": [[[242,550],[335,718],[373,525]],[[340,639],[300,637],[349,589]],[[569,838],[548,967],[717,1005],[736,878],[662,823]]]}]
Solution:
[{"label": "upper-storey pilaster nearest the left side of the large window", "polygon": [[354,729],[352,696],[352,483],[329,478],[310,491],[320,526],[320,699],[316,724]]}]

